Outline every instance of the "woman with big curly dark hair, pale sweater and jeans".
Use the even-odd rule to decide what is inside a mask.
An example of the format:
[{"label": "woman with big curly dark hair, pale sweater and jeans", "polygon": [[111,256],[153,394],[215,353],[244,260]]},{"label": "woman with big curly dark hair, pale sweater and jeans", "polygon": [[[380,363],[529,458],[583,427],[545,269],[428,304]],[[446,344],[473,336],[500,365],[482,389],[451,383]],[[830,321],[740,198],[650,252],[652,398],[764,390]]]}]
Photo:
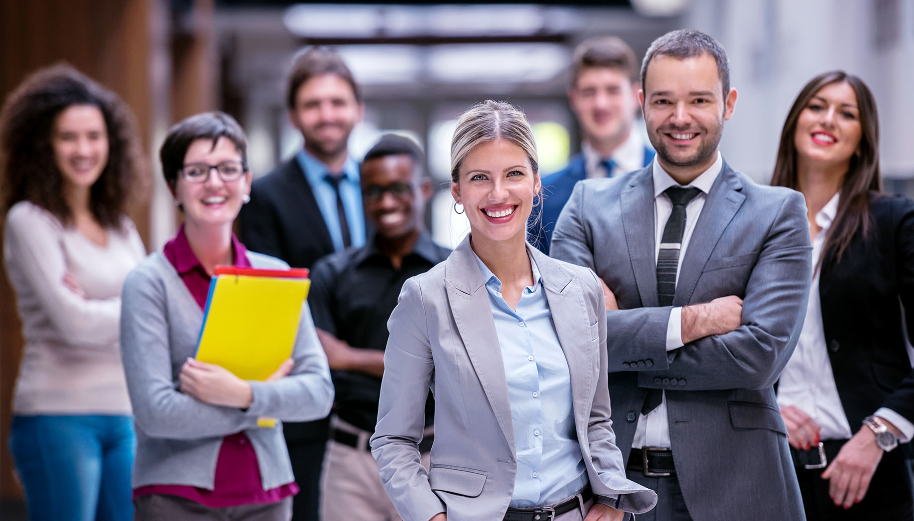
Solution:
[{"label": "woman with big curly dark hair, pale sweater and jeans", "polygon": [[145,248],[126,216],[142,174],[133,118],[68,66],[27,78],[0,113],[4,261],[25,349],[10,448],[32,520],[133,517],[133,419],[118,320]]}]

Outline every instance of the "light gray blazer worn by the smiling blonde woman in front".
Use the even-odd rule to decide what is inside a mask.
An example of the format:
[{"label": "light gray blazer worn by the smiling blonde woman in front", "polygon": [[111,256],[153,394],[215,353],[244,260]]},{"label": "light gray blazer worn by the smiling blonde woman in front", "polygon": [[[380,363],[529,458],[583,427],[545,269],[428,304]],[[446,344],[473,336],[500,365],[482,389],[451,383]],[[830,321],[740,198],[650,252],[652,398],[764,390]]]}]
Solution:
[{"label": "light gray blazer worn by the smiling blonde woman in front", "polygon": [[[530,245],[527,251],[542,276],[568,359],[590,486],[596,495],[620,495],[622,510],[650,510],[656,495],[625,478],[614,443],[600,283],[589,269],[553,260]],[[446,261],[407,281],[388,329],[371,448],[399,515],[428,521],[446,511],[448,521],[501,519],[514,492],[514,428],[492,307],[469,237]],[[426,473],[417,443],[429,389],[435,396],[435,443]]]}]

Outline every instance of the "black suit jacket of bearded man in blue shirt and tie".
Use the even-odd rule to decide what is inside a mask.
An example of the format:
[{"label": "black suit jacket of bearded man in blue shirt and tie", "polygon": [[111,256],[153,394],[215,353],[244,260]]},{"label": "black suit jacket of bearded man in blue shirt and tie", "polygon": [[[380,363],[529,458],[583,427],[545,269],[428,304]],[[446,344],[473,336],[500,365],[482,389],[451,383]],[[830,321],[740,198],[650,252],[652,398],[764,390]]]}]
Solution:
[{"label": "black suit jacket of bearded man in blue shirt and tie", "polygon": [[251,251],[311,268],[334,244],[311,185],[294,157],[256,180],[239,214],[241,242]]}]

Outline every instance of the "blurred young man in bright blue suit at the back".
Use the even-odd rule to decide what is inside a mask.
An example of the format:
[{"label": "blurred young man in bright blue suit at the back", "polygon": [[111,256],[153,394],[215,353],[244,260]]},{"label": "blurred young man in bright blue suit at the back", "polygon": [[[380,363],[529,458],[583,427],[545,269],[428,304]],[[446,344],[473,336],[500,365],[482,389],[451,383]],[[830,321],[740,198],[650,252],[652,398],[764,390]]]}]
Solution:
[{"label": "blurred young man in bright blue suit at the back", "polygon": [[638,170],[654,159],[654,149],[634,128],[638,87],[638,63],[622,38],[590,38],[575,49],[568,94],[583,141],[564,170],[543,177],[543,204],[527,226],[527,240],[543,253],[549,253],[558,214],[576,182]]}]

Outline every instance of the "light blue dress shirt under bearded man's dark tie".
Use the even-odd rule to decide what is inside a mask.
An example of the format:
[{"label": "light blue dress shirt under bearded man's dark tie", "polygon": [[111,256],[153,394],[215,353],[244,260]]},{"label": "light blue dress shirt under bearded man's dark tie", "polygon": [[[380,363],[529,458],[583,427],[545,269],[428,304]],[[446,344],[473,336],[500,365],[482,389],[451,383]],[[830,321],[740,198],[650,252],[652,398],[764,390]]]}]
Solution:
[{"label": "light blue dress shirt under bearded man's dark tie", "polygon": [[[307,151],[299,151],[295,160],[304,171],[304,177],[311,185],[317,207],[324,215],[324,223],[330,232],[330,239],[334,242],[334,250],[343,251],[343,232],[340,228],[339,214],[336,213],[336,191],[333,184],[326,180],[330,173],[327,165],[319,161]],[[336,172],[335,172],[336,173]],[[358,162],[346,157],[343,165],[343,178],[340,180],[340,198],[345,208],[345,219],[349,223],[349,237],[352,245],[361,247],[365,245],[365,212],[362,210],[362,188],[359,185]]]}]

